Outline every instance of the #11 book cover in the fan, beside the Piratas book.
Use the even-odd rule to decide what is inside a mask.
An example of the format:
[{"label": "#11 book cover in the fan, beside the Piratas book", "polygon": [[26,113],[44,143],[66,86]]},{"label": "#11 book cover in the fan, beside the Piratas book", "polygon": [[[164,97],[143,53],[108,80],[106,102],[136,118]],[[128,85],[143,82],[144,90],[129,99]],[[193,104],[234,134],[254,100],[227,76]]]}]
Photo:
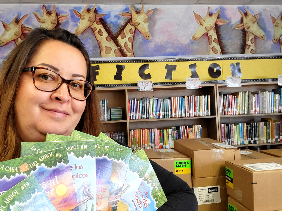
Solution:
[{"label": "#11 book cover in the fan, beside the Piratas book", "polygon": [[149,165],[136,155],[131,153],[129,167],[126,172],[126,178],[120,193],[120,201],[117,210],[137,210],[139,204],[132,199],[136,195],[136,191],[144,179]]}]

